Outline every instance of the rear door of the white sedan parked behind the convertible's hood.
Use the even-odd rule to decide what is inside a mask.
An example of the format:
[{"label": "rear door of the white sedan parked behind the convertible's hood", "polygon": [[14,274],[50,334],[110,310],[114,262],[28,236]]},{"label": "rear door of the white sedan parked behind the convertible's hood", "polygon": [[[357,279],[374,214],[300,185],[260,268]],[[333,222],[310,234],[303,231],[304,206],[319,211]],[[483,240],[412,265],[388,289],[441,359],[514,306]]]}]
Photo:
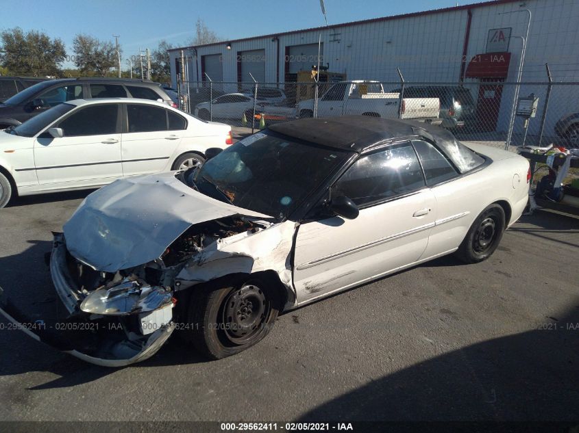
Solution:
[{"label": "rear door of the white sedan parked behind the convertible's hood", "polygon": [[158,105],[123,105],[126,110],[121,146],[123,174],[160,172],[179,146],[186,120]]}]

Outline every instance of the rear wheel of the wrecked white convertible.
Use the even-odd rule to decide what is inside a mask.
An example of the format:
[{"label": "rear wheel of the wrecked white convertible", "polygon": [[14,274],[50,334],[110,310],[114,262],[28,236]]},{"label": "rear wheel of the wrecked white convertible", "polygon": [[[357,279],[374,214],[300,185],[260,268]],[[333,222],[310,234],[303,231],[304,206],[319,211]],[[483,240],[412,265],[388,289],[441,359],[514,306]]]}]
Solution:
[{"label": "rear wheel of the wrecked white convertible", "polygon": [[505,229],[504,209],[493,203],[486,207],[455,252],[465,263],[479,263],[491,257],[499,246]]}]

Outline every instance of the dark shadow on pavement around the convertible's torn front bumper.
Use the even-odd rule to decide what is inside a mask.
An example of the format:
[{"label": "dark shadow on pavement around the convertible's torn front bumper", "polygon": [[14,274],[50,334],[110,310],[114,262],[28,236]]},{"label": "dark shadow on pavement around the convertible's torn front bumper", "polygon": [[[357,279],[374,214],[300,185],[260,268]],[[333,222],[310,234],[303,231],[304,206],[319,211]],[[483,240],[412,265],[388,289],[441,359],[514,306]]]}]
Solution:
[{"label": "dark shadow on pavement around the convertible's torn front bumper", "polygon": [[[58,299],[45,264],[50,241],[29,241],[29,248],[10,257],[0,257],[0,287],[4,296],[21,311],[29,322],[43,320],[49,324],[62,322],[66,309]],[[69,354],[34,341],[21,330],[10,327],[0,315],[0,376],[12,376],[41,371],[58,376],[47,383],[29,389],[51,389],[92,382],[119,371],[85,363]],[[143,363],[125,368],[147,368],[161,365],[184,365],[206,362],[190,343],[175,332],[161,350]]]}]

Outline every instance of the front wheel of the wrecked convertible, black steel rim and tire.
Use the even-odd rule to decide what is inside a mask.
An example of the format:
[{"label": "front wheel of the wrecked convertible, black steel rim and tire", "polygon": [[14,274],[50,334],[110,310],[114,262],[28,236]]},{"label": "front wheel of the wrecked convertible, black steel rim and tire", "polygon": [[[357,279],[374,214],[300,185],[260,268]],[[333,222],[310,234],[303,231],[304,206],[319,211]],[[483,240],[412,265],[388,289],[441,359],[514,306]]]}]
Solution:
[{"label": "front wheel of the wrecked convertible, black steel rim and tire", "polygon": [[192,290],[189,339],[211,359],[238,354],[264,339],[280,311],[275,291],[260,280]]}]

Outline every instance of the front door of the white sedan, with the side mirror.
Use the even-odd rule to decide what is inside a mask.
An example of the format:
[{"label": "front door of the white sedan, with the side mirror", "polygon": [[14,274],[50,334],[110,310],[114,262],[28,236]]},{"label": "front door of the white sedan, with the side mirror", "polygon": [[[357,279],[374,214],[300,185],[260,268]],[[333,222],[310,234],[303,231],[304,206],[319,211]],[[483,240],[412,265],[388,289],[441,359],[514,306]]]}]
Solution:
[{"label": "front door of the white sedan, with the side mirror", "polygon": [[52,126],[62,128],[63,136],[45,131],[34,142],[40,185],[101,185],[122,176],[119,104],[80,106]]}]

